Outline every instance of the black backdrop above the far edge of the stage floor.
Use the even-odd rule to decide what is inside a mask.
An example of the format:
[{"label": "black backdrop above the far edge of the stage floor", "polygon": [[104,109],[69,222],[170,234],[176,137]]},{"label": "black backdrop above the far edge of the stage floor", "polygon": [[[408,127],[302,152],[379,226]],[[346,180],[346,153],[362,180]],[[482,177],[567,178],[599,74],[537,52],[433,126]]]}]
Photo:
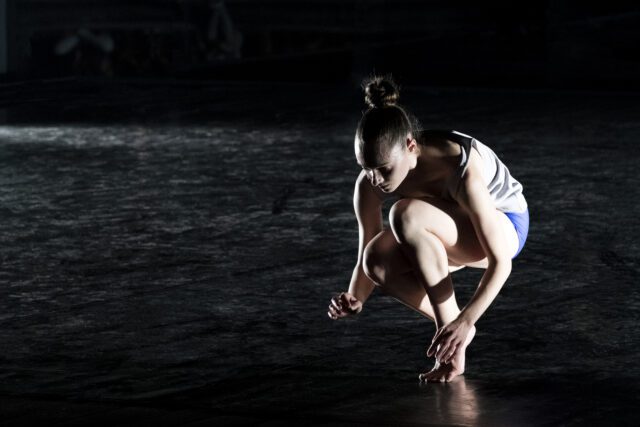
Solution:
[{"label": "black backdrop above the far edge of the stage floor", "polygon": [[[205,0],[8,0],[4,79],[339,82],[375,70],[432,86],[639,88],[640,6],[631,0],[224,4],[242,35],[231,50],[220,47],[229,33],[208,37],[216,12]],[[55,43],[79,28],[108,34],[112,50],[85,42],[56,55]]]}]

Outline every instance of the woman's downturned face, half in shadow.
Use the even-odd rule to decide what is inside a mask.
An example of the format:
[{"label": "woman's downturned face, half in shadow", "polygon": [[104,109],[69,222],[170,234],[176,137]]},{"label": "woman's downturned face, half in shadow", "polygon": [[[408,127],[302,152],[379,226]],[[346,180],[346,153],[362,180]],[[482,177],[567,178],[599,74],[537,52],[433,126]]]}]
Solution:
[{"label": "woman's downturned face, half in shadow", "polygon": [[371,184],[385,193],[398,188],[411,169],[409,151],[403,144],[396,144],[387,153],[367,146],[364,151],[356,153],[358,164],[365,170]]}]

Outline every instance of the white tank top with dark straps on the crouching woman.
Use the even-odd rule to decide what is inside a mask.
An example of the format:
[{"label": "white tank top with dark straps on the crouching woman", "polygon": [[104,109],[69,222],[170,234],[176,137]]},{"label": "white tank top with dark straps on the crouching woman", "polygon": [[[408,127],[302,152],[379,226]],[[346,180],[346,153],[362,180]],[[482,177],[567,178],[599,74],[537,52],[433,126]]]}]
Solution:
[{"label": "white tank top with dark straps on the crouching woman", "polygon": [[496,209],[502,212],[524,212],[527,210],[527,201],[522,194],[522,184],[509,173],[509,169],[498,158],[494,151],[478,141],[455,130],[429,129],[422,131],[424,134],[434,134],[450,141],[457,142],[462,148],[460,164],[456,170],[456,176],[444,189],[442,198],[453,200],[451,194],[455,194],[462,178],[469,166],[469,153],[475,148],[482,159],[482,177]]}]

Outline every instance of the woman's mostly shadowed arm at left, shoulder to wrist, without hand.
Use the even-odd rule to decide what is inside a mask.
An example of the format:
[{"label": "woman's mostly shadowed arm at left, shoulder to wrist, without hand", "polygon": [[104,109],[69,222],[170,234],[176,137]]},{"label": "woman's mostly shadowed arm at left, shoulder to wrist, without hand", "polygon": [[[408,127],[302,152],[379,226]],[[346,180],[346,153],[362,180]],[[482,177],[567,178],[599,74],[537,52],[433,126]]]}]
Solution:
[{"label": "woman's mostly shadowed arm at left, shoulder to wrist, without hand", "polygon": [[382,231],[383,195],[366,177],[364,170],[356,179],[353,191],[353,209],[358,220],[358,260],[353,269],[349,293],[364,304],[375,288],[363,269],[363,254],[367,244]]}]

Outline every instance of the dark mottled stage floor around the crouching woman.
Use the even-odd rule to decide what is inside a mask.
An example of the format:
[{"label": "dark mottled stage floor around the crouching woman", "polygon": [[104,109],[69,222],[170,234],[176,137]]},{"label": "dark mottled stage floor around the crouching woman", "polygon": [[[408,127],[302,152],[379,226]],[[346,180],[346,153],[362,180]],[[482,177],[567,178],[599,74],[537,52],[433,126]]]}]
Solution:
[{"label": "dark mottled stage floor around the crouching woman", "polygon": [[[2,424],[637,425],[640,95],[403,91],[531,214],[450,384],[419,384],[434,325],[379,290],[326,315],[357,255],[357,85],[0,86]],[[482,272],[454,273],[461,305]]]}]

